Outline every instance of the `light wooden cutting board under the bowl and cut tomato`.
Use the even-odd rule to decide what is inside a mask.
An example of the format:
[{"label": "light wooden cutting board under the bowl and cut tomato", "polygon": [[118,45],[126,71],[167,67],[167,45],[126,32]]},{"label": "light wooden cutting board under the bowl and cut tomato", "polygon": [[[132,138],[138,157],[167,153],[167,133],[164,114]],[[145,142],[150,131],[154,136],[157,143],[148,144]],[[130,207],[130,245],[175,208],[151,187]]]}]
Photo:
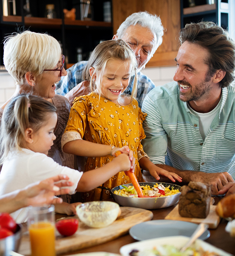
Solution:
[{"label": "light wooden cutting board under the bowl and cut tomato", "polygon": [[[62,237],[57,231],[55,241],[56,253],[72,252],[111,241],[126,234],[134,225],[153,218],[152,211],[134,207],[120,208],[122,210],[121,215],[108,227],[90,228],[79,220],[79,228],[71,237]],[[28,232],[22,236],[19,253],[25,256],[31,254]]]}]

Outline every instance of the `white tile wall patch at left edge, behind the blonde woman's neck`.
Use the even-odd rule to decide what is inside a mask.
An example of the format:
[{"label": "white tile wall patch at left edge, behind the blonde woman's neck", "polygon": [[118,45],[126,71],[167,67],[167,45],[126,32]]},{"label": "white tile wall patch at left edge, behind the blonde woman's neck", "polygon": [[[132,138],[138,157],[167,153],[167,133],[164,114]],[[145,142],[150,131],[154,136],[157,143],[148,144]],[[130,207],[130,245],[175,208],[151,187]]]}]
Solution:
[{"label": "white tile wall patch at left edge, behind the blonde woman's neck", "polygon": [[7,71],[0,72],[0,106],[5,103],[15,92],[15,80]]}]

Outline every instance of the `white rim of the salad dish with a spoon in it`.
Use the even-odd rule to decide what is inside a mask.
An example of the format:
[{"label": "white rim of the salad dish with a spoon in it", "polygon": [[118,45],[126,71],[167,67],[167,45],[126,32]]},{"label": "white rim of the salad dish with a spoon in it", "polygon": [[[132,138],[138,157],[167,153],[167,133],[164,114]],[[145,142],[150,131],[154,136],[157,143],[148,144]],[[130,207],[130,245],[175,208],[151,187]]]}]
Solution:
[{"label": "white rim of the salad dish with a spoon in it", "polygon": [[[174,245],[177,248],[181,248],[188,241],[188,237],[184,236],[175,236],[175,237],[162,237],[162,238],[154,238],[145,241],[130,243],[129,245],[124,245],[120,248],[120,254],[122,256],[129,256],[129,253],[133,249],[137,249],[140,252],[144,250],[152,249],[153,247],[158,248],[158,245]],[[220,256],[232,256],[232,254],[225,252],[213,245],[210,245],[207,242],[204,242],[200,239],[197,239],[194,243],[196,249],[202,248],[203,250],[207,250],[210,252],[215,252]]]}]

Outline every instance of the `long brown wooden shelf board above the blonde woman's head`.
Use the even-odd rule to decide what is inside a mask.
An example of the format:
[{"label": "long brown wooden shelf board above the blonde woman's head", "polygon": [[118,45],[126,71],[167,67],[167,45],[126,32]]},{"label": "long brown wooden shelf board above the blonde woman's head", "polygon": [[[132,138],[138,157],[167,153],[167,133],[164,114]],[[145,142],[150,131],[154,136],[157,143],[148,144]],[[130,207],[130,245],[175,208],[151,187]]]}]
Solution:
[{"label": "long brown wooden shelf board above the blonde woman's head", "polygon": [[[25,25],[28,26],[52,26],[52,27],[60,27],[62,25],[62,19],[47,19],[47,18],[39,18],[39,17],[25,17]],[[3,16],[3,21],[5,22],[22,22],[21,16]],[[65,19],[65,25],[72,26],[99,26],[99,27],[112,27],[111,22],[104,21],[80,21],[71,19]]]}]

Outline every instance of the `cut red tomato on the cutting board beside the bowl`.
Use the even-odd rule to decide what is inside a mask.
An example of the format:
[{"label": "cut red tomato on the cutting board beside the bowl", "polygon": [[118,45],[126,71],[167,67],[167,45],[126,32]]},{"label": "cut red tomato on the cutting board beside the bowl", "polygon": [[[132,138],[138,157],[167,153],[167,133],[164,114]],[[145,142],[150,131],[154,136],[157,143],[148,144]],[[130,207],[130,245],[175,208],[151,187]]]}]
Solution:
[{"label": "cut red tomato on the cutting board beside the bowl", "polygon": [[55,227],[61,235],[68,237],[70,235],[73,235],[77,231],[78,220],[73,218],[59,220],[57,221],[57,223],[55,223]]}]

